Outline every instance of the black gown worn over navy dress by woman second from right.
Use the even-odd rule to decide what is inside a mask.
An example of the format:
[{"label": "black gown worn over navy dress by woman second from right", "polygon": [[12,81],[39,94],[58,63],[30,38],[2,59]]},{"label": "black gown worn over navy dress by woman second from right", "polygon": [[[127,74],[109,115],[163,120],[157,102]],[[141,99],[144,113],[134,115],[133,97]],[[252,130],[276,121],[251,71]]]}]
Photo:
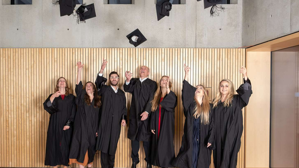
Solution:
[{"label": "black gown worn over navy dress by woman second from right", "polygon": [[[190,85],[187,81],[183,81],[182,101],[185,115],[184,135],[182,145],[179,149],[177,157],[172,162],[172,165],[178,168],[192,168],[193,154],[193,120],[194,100],[196,88]],[[212,104],[210,104],[212,107]],[[212,109],[212,108],[211,108]],[[209,113],[209,124],[200,124],[200,150],[197,160],[197,168],[209,168],[211,164],[212,147],[207,148],[207,144],[213,145],[214,139],[214,119],[212,111]]]}]

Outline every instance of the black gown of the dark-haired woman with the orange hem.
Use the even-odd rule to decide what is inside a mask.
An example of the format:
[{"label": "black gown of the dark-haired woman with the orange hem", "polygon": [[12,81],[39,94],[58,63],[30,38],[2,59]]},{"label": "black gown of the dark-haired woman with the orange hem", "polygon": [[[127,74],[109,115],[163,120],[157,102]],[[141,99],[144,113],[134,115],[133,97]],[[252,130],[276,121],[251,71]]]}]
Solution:
[{"label": "black gown of the dark-haired woman with the orange hem", "polygon": [[[77,113],[74,122],[74,132],[72,145],[70,149],[70,159],[77,159],[79,163],[84,162],[85,154],[88,150],[88,164],[92,163],[96,154],[96,133],[98,131],[99,111],[98,107],[94,107],[92,100],[90,105],[87,105],[84,100],[86,90],[82,89],[82,82],[76,84],[77,97]],[[97,91],[97,90],[95,90]]]}]

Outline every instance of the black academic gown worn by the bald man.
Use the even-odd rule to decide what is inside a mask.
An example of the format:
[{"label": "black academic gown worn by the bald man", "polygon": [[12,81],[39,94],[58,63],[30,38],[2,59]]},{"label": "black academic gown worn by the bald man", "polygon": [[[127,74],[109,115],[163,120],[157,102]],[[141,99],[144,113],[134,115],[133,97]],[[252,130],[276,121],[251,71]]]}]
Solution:
[{"label": "black academic gown worn by the bald man", "polygon": [[[146,79],[143,83],[139,78],[131,79],[130,84],[124,84],[124,90],[132,93],[132,103],[129,116],[128,138],[132,141],[150,141],[151,132],[149,129],[150,123],[150,101],[153,99],[154,92],[157,89],[157,83]],[[141,121],[140,116],[144,111],[149,113],[146,120]]]}]

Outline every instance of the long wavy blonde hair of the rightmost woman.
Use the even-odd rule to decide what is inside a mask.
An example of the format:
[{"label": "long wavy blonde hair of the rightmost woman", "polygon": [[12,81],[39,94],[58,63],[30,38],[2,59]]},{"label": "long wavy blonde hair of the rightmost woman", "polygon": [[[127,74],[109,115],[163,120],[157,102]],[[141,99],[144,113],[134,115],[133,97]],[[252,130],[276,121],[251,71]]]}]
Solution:
[{"label": "long wavy blonde hair of the rightmost woman", "polygon": [[[226,96],[226,98],[224,100],[224,107],[229,107],[232,104],[232,101],[233,101],[233,98],[234,98],[234,95],[235,95],[234,84],[230,80],[228,80],[228,79],[224,79],[222,81],[226,81],[228,83],[228,85],[229,85],[229,92],[228,92],[228,95]],[[220,92],[220,84],[221,84],[221,82],[218,85],[217,95],[216,95],[216,97],[213,100],[213,108],[217,107],[217,104],[221,100],[221,97],[222,97],[221,92]]]}]

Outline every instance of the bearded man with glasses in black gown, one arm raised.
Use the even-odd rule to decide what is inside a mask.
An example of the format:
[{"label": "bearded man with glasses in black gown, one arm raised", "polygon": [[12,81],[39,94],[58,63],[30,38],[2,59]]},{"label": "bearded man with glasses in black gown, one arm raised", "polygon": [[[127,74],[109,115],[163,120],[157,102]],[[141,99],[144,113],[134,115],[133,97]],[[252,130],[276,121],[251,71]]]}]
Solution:
[{"label": "bearded man with glasses in black gown, one arm raised", "polygon": [[117,86],[119,83],[117,72],[110,73],[111,85],[105,85],[107,79],[103,77],[103,71],[106,64],[107,61],[103,59],[101,70],[95,82],[98,95],[102,96],[96,149],[101,151],[102,168],[113,168],[121,125],[126,126],[127,123],[127,107],[125,92]]}]

